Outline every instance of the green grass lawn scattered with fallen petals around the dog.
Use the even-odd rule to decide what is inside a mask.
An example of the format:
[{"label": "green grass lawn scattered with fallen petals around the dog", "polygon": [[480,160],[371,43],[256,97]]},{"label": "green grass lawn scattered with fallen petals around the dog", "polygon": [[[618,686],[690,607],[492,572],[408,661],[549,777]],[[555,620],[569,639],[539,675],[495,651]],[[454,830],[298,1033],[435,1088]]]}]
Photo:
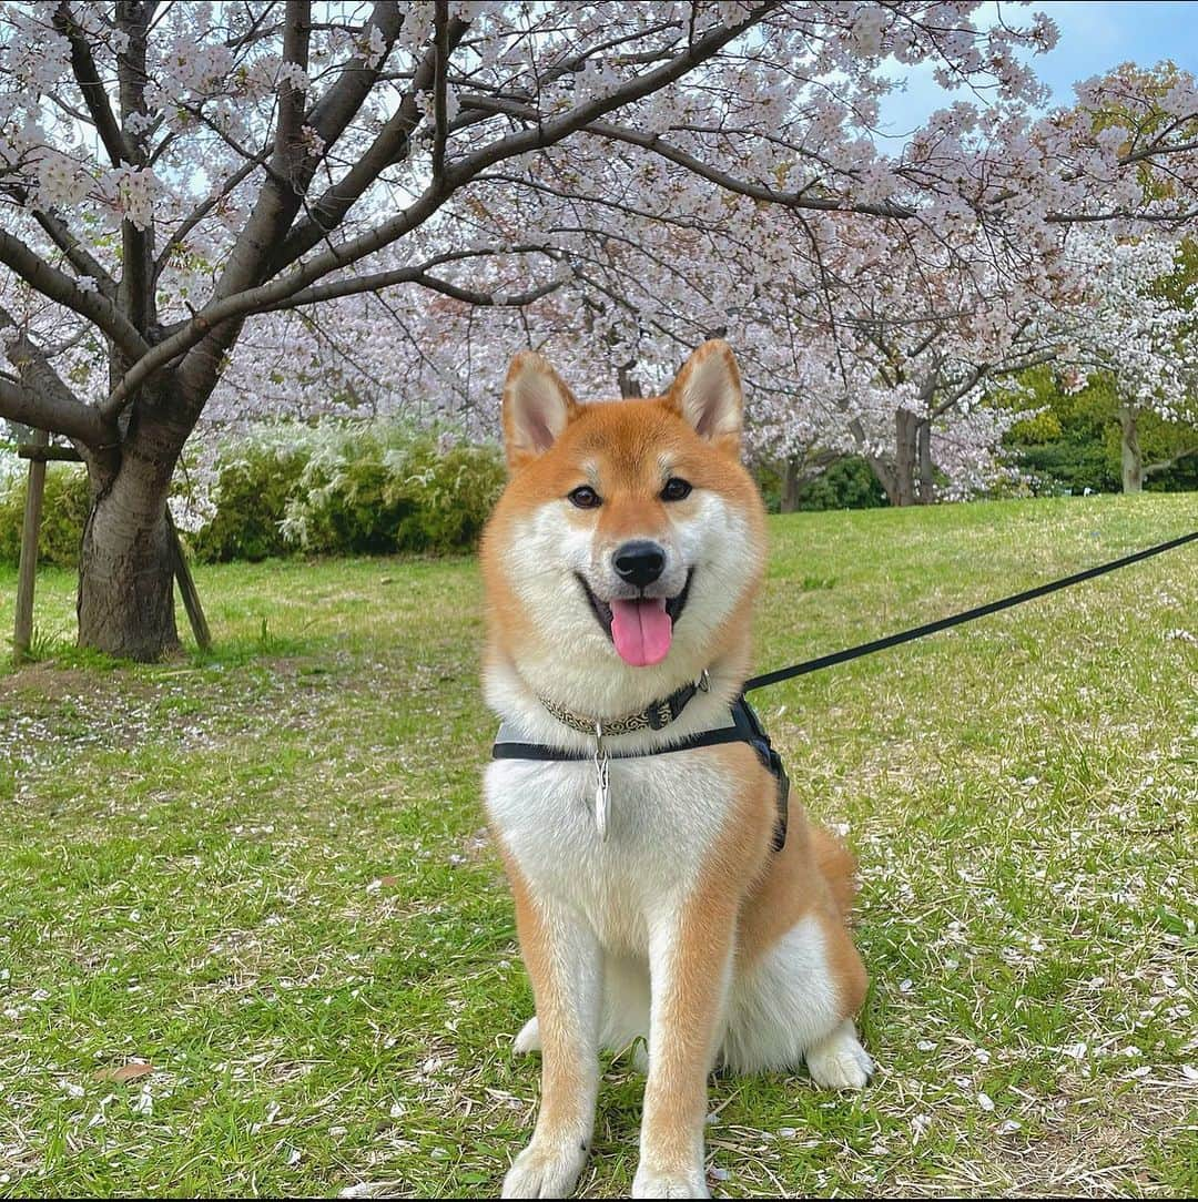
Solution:
[{"label": "green grass lawn scattered with fallen petals around the dog", "polygon": [[[758,665],[1196,526],[1196,494],[775,518]],[[210,657],[67,649],[46,572],[46,657],[0,670],[0,1195],[493,1194],[538,1065],[475,564],[196,575]],[[879,1073],[717,1079],[717,1192],[1192,1192],[1198,549],[758,697],[861,861]],[[585,1194],[627,1192],[640,1089],[607,1066]]]}]

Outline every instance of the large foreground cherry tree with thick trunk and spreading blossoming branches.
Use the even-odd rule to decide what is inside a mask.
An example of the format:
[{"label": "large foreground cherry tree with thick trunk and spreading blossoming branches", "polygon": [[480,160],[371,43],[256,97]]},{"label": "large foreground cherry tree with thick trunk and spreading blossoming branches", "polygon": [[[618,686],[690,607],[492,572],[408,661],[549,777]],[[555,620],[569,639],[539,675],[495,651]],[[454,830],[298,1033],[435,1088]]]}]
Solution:
[{"label": "large foreground cherry tree with thick trunk and spreading blossoming branches", "polygon": [[[389,359],[381,334],[380,383],[433,387],[461,375],[456,340],[481,314],[488,371],[544,323],[631,387],[726,328],[769,397],[779,362],[776,392],[835,375],[779,351],[770,315],[782,293],[801,310],[859,278],[824,261],[849,218],[902,228],[917,257],[980,230],[969,245],[1002,264],[1034,262],[1063,225],[1192,216],[1192,79],[1168,94],[1176,123],[1117,143],[1036,119],[1021,55],[1055,30],[981,28],[980,7],[5,5],[0,416],[87,463],[81,642],[138,659],[177,642],[171,478],[209,405],[238,409],[233,380],[261,410],[285,400],[272,347],[315,337],[350,377]],[[871,138],[885,60],[932,63],[992,103],[954,105],[888,156]],[[373,303],[345,304],[363,293],[396,321],[363,325]],[[334,309],[346,328],[358,315],[352,338],[321,334]],[[420,337],[397,337],[404,322]]]}]

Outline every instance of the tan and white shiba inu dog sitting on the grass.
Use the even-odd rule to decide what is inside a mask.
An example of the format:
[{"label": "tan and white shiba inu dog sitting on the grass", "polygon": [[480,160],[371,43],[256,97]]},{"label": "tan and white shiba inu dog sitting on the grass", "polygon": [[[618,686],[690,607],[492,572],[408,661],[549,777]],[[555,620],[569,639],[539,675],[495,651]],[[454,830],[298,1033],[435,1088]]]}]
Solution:
[{"label": "tan and white shiba inu dog sitting on the grass", "polygon": [[541,1053],[541,1105],[505,1197],[574,1189],[603,1048],[647,1045],[634,1197],[708,1196],[716,1064],[806,1060],[835,1089],[872,1071],[853,861],[801,808],[785,821],[739,701],[766,554],[741,423],[722,341],[647,400],[580,404],[532,352],[508,373],[510,481],[482,545],[504,722],[485,792],[536,1006],[515,1047]]}]

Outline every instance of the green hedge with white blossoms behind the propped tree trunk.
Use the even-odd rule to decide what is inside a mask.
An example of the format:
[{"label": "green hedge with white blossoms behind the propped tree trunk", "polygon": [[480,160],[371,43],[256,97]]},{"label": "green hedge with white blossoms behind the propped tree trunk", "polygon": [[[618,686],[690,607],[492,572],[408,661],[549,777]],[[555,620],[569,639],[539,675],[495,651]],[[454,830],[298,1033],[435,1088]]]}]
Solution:
[{"label": "green hedge with white blossoms behind the propped tree trunk", "polygon": [[[266,427],[203,457],[178,474],[172,500],[203,563],[469,551],[504,481],[497,447],[396,422]],[[89,504],[83,468],[51,464],[41,563],[77,564]],[[0,474],[0,563],[18,561],[24,506],[24,471]]]}]

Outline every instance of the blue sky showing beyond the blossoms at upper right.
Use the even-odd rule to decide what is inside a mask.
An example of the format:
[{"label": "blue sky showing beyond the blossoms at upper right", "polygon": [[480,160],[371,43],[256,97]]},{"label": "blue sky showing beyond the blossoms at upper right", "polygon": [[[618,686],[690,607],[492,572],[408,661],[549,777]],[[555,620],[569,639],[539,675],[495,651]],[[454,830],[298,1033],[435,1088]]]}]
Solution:
[{"label": "blue sky showing beyond the blossoms at upper right", "polygon": [[[1036,73],[1052,89],[1055,103],[1073,101],[1073,84],[1120,63],[1152,66],[1172,59],[1198,75],[1198,0],[1056,0],[1030,10],[1002,5],[1010,24],[1022,24],[1030,12],[1045,12],[1057,24],[1056,49],[1032,60]],[[978,24],[989,24],[983,11]],[[895,66],[889,73],[900,76]],[[883,105],[883,117],[895,135],[911,132],[933,109],[969,94],[945,93],[931,78],[931,69],[907,72],[907,91]]]}]

